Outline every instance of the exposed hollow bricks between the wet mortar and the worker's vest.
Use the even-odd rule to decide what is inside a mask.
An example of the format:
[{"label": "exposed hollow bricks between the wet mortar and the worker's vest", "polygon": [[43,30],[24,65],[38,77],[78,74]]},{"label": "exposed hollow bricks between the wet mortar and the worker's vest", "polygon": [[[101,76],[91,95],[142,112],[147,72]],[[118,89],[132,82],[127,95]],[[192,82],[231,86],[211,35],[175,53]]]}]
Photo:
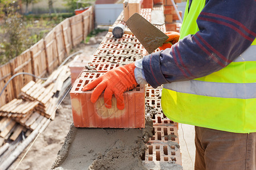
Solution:
[{"label": "exposed hollow bricks between the wet mortar and the worker's vest", "polygon": [[151,114],[154,129],[142,159],[147,169],[182,169],[178,124],[163,114],[161,96],[162,87],[152,88],[147,84],[145,104],[147,114]]}]

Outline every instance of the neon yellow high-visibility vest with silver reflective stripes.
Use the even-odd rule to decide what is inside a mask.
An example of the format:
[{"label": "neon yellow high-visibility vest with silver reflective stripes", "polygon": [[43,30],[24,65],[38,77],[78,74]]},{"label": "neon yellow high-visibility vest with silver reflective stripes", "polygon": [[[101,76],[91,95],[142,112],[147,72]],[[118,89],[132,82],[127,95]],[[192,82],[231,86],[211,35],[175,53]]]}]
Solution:
[{"label": "neon yellow high-visibility vest with silver reflective stripes", "polygon": [[[181,39],[199,31],[196,19],[204,5],[204,0],[193,0],[188,14],[187,3]],[[255,42],[220,71],[203,78],[164,84],[164,114],[173,121],[204,128],[256,132]]]}]

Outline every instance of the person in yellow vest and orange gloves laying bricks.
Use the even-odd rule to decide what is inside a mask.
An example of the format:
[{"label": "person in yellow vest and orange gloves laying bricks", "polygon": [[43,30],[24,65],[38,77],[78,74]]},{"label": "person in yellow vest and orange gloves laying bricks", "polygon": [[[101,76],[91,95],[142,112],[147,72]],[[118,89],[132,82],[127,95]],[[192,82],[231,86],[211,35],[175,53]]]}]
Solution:
[{"label": "person in yellow vest and orange gloves laying bricks", "polygon": [[123,109],[124,91],[164,84],[164,114],[195,125],[195,169],[256,169],[255,11],[255,0],[188,0],[179,42],[108,71],[84,90],[96,87],[93,103],[105,90],[108,108],[114,94]]}]

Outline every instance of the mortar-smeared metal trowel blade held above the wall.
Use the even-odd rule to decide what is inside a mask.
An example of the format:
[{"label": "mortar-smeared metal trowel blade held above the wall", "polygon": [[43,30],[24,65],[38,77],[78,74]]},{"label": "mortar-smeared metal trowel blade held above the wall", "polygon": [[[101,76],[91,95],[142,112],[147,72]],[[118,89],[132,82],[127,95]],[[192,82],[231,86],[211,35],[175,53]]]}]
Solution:
[{"label": "mortar-smeared metal trowel blade held above the wall", "polygon": [[168,36],[156,28],[138,13],[133,14],[127,21],[127,26],[139,42],[150,54],[168,39]]}]

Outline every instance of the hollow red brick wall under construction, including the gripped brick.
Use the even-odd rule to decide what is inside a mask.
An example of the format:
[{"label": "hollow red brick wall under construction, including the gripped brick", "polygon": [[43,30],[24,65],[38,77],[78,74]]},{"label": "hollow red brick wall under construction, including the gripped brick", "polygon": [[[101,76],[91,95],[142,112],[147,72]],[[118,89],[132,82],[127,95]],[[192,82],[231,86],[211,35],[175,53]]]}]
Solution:
[{"label": "hollow red brick wall under construction, including the gripped brick", "polygon": [[[142,8],[141,15],[150,21],[151,9]],[[120,23],[126,25],[123,12],[113,26]],[[159,29],[166,31],[165,25],[160,25]],[[92,91],[82,91],[85,84],[105,74],[106,71],[135,62],[146,54],[146,50],[134,35],[125,34],[121,39],[115,39],[111,32],[107,33],[72,87],[74,125],[90,128],[144,128],[146,109],[146,113],[151,114],[154,130],[153,136],[146,143],[148,148],[142,155],[144,166],[147,169],[171,169],[174,166],[176,169],[182,169],[177,123],[164,116],[161,109],[162,87],[152,88],[147,84],[146,87],[137,87],[133,91],[125,92],[125,109],[122,111],[113,104],[112,109],[106,109],[102,97],[104,94],[96,104],[93,104],[90,103]],[[114,97],[112,103],[115,103]]]}]

